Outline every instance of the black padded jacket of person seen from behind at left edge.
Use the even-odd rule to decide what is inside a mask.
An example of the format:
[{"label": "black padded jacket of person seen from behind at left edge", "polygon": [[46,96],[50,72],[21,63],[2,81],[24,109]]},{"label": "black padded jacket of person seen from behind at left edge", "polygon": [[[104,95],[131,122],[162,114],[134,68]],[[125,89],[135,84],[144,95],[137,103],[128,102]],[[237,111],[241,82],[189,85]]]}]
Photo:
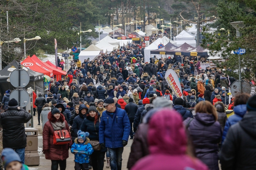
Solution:
[{"label": "black padded jacket of person seen from behind at left edge", "polygon": [[31,114],[23,108],[9,108],[0,114],[0,124],[3,129],[3,148],[25,148],[27,135],[24,123],[31,119]]}]

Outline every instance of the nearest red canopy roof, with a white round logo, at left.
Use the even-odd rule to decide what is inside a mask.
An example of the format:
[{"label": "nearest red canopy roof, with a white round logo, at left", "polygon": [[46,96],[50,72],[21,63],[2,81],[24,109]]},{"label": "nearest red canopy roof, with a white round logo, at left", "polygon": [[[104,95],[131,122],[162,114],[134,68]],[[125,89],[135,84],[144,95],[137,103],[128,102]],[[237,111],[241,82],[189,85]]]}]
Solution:
[{"label": "nearest red canopy roof, with a white round logo, at left", "polygon": [[21,62],[22,65],[29,68],[30,70],[36,71],[38,73],[43,73],[47,76],[52,77],[53,71],[50,69],[47,69],[44,66],[41,66],[39,63],[37,63],[35,60],[31,59],[31,57],[27,57],[25,60]]}]

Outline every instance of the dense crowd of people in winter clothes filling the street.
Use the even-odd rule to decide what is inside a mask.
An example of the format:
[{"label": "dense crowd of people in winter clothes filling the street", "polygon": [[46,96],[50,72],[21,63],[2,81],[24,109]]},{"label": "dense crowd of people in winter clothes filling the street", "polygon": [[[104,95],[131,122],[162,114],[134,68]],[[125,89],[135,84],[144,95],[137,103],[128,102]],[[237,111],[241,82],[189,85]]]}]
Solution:
[{"label": "dense crowd of people in winter clothes filling the street", "polygon": [[[168,69],[179,77],[183,97],[175,96],[166,81]],[[202,69],[199,61],[180,63],[154,56],[144,63],[136,44],[93,61],[72,61],[68,75],[50,84],[46,99],[33,92],[43,152],[52,170],[66,169],[69,148],[75,155],[75,170],[102,170],[105,160],[107,168],[121,170],[130,138],[128,169],[218,170],[219,160],[222,170],[251,169],[256,96],[242,93],[230,100],[227,89],[235,80],[222,70]],[[4,126],[8,123],[4,116],[13,115],[14,107],[15,113],[27,116],[23,122],[30,118],[17,108],[17,101],[8,101],[9,93],[4,96],[6,111],[0,114],[3,138],[8,140],[16,135],[7,135],[5,129],[11,130]],[[227,108],[234,111],[229,118]],[[71,141],[53,144],[55,130],[68,131]],[[97,141],[100,148],[93,148],[90,141]],[[4,148],[17,152],[17,147],[3,142]]]}]

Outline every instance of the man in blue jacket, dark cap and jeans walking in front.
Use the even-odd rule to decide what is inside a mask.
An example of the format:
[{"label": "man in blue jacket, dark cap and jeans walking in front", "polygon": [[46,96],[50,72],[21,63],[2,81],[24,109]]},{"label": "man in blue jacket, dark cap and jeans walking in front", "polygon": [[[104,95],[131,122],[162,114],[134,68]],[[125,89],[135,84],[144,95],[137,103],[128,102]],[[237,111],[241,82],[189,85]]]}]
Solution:
[{"label": "man in blue jacket, dark cap and jeans walking in front", "polygon": [[103,104],[107,109],[102,113],[99,126],[99,142],[110,152],[110,167],[121,170],[122,154],[130,134],[130,121],[125,110],[117,108],[113,98],[108,97]]}]

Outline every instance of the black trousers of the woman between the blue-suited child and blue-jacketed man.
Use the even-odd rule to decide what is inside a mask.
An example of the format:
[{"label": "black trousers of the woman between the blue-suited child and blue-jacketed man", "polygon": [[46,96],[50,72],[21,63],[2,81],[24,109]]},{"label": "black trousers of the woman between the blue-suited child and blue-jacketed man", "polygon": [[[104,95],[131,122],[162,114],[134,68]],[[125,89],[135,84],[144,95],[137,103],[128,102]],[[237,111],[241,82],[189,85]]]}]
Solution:
[{"label": "black trousers of the woman between the blue-suited child and blue-jacketed man", "polygon": [[101,151],[93,151],[90,155],[91,157],[91,165],[94,170],[103,170],[104,167],[104,157],[105,152]]}]

